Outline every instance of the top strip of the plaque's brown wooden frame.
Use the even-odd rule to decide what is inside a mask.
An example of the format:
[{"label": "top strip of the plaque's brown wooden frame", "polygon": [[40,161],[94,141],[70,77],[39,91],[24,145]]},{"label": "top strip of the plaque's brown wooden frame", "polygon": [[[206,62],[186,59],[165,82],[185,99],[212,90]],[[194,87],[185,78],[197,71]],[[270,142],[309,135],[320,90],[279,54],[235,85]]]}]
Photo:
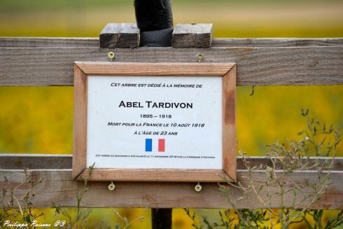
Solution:
[{"label": "top strip of the plaque's brown wooden frame", "polygon": [[87,75],[104,76],[223,76],[233,63],[75,62]]}]

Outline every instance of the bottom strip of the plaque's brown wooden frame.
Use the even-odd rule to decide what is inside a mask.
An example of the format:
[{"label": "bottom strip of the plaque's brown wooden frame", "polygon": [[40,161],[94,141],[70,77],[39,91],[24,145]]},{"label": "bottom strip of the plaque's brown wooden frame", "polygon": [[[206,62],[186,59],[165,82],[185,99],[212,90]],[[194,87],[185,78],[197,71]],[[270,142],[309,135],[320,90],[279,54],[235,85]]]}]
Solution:
[{"label": "bottom strip of the plaque's brown wooden frame", "polygon": [[[85,169],[78,180],[88,177]],[[221,182],[223,177],[232,181],[223,169],[97,169],[90,181],[170,181],[170,182]]]}]

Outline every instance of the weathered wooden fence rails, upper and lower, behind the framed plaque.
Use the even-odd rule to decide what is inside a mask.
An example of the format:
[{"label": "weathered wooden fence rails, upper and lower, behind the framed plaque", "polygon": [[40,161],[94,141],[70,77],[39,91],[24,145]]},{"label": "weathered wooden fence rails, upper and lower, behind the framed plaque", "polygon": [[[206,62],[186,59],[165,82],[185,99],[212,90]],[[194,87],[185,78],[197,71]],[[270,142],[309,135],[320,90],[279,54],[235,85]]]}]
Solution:
[{"label": "weathered wooden fence rails, upper and lower, behind the framed plaque", "polygon": [[[211,48],[99,48],[99,39],[0,38],[0,85],[73,85],[73,62],[108,61],[109,50],[119,62],[236,62],[237,85],[335,85],[343,83],[343,39],[214,39]],[[252,164],[267,165],[265,158],[249,158]],[[313,209],[343,209],[343,158],[335,159],[330,184]],[[75,207],[75,195],[83,183],[71,177],[70,155],[0,154],[1,172],[17,186],[29,168],[34,179],[44,179],[36,188],[33,205]],[[244,182],[247,171],[238,158],[237,179]],[[263,171],[254,172],[264,181]],[[325,172],[323,172],[325,174]],[[317,171],[295,172],[295,183],[316,179]],[[0,176],[0,187],[4,186]],[[109,182],[91,182],[83,207],[151,208],[230,208],[217,183],[202,183],[196,193],[195,183],[118,182],[108,190]],[[24,193],[28,186],[19,191]],[[276,193],[276,190],[273,190]],[[239,190],[232,188],[239,197]],[[299,199],[307,195],[300,193]],[[280,206],[278,200],[272,208]],[[302,207],[298,202],[295,207]],[[248,195],[237,202],[239,208],[262,208]]]}]

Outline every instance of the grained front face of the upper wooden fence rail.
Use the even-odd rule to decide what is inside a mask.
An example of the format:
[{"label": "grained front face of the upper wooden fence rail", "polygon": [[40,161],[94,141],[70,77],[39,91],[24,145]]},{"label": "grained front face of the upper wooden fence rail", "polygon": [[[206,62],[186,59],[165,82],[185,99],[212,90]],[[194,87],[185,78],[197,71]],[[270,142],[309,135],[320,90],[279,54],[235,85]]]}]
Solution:
[{"label": "grained front face of the upper wooden fence rail", "polygon": [[[118,62],[236,62],[237,85],[343,83],[343,47],[116,48]],[[0,85],[73,85],[73,62],[108,60],[109,49],[0,48]]]}]

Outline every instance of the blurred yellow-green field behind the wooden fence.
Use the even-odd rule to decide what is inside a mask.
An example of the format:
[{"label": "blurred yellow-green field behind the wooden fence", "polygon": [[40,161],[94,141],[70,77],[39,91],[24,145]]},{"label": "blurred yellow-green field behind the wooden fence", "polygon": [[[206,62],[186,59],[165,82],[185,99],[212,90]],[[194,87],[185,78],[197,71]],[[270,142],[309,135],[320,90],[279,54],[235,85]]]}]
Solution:
[{"label": "blurred yellow-green field behind the wooden fence", "polygon": [[[214,23],[214,37],[342,37],[343,1],[174,0],[174,24]],[[108,22],[134,22],[127,0],[0,0],[0,36],[99,36]],[[1,67],[1,63],[0,63]],[[296,139],[304,127],[300,109],[328,125],[343,126],[343,86],[237,88],[237,137],[248,155],[265,155],[276,139]],[[0,87],[0,153],[71,153],[73,88]],[[338,148],[343,156],[343,144]],[[38,210],[37,210],[38,211]],[[45,210],[47,221],[52,210]],[[127,218],[143,213],[132,228],[151,226],[150,210],[120,209]],[[197,210],[218,220],[218,210]],[[330,217],[330,212],[326,214]],[[174,228],[190,228],[174,209]],[[92,225],[116,222],[111,209],[92,209]],[[295,226],[301,228],[301,225]]]}]

